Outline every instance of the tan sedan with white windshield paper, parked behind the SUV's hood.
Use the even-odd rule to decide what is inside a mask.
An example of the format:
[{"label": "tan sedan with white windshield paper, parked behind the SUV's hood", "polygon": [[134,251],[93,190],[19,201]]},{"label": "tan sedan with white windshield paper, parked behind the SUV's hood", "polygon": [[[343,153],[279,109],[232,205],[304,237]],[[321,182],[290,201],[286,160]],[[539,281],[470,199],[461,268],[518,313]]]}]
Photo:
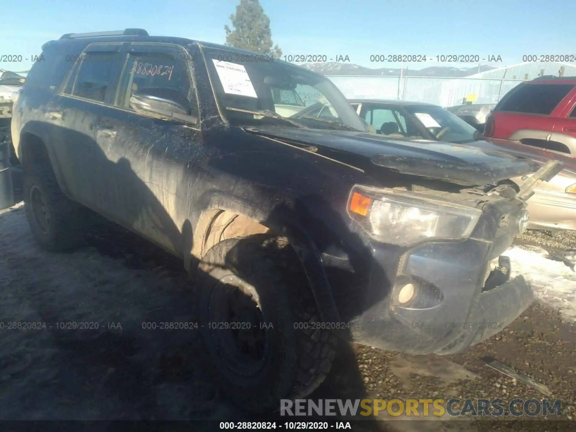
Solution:
[{"label": "tan sedan with white windshield paper, parked behind the SUV's hood", "polygon": [[[393,140],[452,142],[483,150],[500,150],[544,163],[559,160],[564,169],[541,183],[528,200],[529,229],[576,230],[576,157],[506,139],[485,138],[474,127],[438,105],[401,100],[350,100],[378,135]],[[526,179],[513,179],[522,184]]]}]

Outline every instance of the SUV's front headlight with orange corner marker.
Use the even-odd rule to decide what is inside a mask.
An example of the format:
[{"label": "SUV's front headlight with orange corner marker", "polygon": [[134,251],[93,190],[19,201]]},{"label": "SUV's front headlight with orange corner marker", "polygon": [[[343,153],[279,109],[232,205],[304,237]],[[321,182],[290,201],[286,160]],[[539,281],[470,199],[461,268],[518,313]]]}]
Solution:
[{"label": "SUV's front headlight with orange corner marker", "polygon": [[482,211],[406,192],[355,186],[348,214],[375,240],[407,246],[433,238],[467,238]]}]

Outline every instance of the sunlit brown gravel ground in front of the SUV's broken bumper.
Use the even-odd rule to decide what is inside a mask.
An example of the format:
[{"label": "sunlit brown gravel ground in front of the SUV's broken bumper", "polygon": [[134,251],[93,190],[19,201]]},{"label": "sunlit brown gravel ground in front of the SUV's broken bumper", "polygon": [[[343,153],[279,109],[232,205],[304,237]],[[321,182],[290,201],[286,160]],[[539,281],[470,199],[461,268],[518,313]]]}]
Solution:
[{"label": "sunlit brown gravel ground in front of the SUV's broken bumper", "polygon": [[[549,233],[530,230],[517,236],[517,245],[536,245],[548,252],[576,248],[576,232],[559,232],[554,238]],[[515,397],[542,399],[547,397],[514,378],[510,378],[486,366],[483,358],[492,357],[513,367],[514,370],[534,378],[552,392],[549,399],[562,400],[562,422],[547,422],[547,430],[574,429],[576,426],[576,324],[563,321],[557,310],[540,302],[533,303],[516,321],[501,333],[470,348],[464,354],[438,357],[435,355],[410,356],[389,353],[365,346],[356,346],[355,362],[362,374],[369,397],[379,399],[495,399],[502,398],[505,404]],[[348,360],[350,363],[352,359]],[[404,367],[402,367],[404,365]],[[334,382],[345,378],[335,377]],[[350,397],[347,386],[334,386],[343,392],[340,396]],[[454,406],[456,408],[456,406]],[[474,419],[465,430],[491,431],[498,427],[505,430],[543,430],[542,423],[532,424],[510,420],[494,423],[491,419]],[[545,418],[534,418],[544,420]],[[555,420],[554,418],[548,418]],[[565,420],[570,422],[567,424]],[[402,429],[410,430],[410,422]],[[422,423],[419,429],[423,430]],[[446,423],[446,422],[445,422]],[[430,425],[430,430],[443,426]],[[460,425],[458,425],[460,426]],[[556,430],[556,429],[554,429]]]}]

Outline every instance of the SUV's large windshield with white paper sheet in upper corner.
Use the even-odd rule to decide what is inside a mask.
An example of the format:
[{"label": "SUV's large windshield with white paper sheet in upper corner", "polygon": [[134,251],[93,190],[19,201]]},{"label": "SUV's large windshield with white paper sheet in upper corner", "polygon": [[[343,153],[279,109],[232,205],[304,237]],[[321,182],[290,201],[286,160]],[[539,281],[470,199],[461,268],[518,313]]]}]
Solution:
[{"label": "SUV's large windshield with white paper sheet in upper corner", "polygon": [[367,131],[340,90],[322,75],[268,56],[219,48],[203,52],[222,115],[235,126]]}]

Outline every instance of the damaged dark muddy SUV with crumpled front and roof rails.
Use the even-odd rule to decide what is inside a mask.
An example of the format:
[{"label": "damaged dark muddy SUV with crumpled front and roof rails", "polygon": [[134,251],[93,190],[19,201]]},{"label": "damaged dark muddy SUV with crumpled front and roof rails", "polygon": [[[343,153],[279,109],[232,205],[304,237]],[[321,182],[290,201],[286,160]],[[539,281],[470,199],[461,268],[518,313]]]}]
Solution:
[{"label": "damaged dark muddy SUV with crumpled front and roof rails", "polygon": [[516,319],[532,291],[501,254],[559,170],[369,134],[319,74],[142,29],[44,44],[12,137],[39,244],[96,212],[180,257],[212,372],[255,411],[319,386],[338,337],[450,354]]}]

